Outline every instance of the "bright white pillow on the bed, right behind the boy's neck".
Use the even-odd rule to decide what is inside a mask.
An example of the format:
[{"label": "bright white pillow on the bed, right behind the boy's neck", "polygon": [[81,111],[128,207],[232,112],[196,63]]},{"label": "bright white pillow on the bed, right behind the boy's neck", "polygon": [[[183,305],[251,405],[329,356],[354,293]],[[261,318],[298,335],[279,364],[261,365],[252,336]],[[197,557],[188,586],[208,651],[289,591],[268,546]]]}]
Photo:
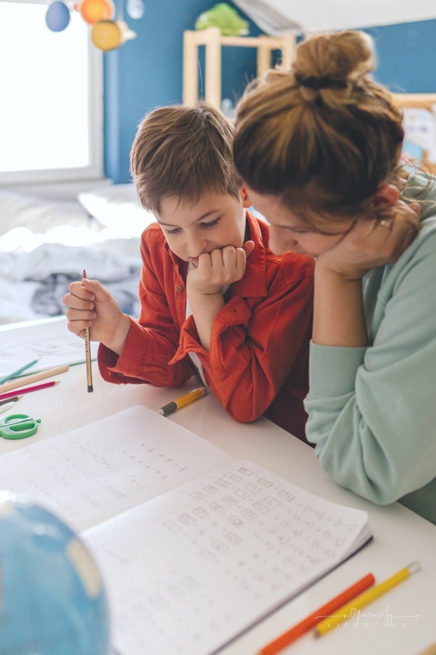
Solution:
[{"label": "bright white pillow on the bed, right behind the boy's neck", "polygon": [[125,238],[141,236],[155,221],[138,200],[134,184],[113,184],[79,193],[78,201],[97,221]]}]

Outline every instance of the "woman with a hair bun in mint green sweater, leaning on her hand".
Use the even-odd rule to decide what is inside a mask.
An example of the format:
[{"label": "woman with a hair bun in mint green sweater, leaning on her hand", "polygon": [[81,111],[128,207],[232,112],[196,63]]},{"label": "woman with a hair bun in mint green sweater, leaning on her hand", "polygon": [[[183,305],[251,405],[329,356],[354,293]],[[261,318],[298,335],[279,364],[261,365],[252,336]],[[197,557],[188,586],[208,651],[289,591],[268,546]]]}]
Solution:
[{"label": "woman with a hair bun in mint green sweater, leaning on her hand", "polygon": [[[398,161],[401,113],[364,33],[311,37],[237,109],[269,246],[316,258],[307,438],[337,483],[436,521],[436,179]],[[419,223],[420,221],[420,223]]]}]

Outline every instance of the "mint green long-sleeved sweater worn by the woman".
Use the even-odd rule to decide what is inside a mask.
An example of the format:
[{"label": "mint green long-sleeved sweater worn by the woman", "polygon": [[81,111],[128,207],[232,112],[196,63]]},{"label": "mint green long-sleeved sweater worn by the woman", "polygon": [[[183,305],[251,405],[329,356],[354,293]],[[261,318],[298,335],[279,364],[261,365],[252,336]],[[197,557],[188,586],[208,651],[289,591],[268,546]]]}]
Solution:
[{"label": "mint green long-sleeved sweater worn by the woman", "polygon": [[424,201],[420,234],[363,278],[369,345],[311,343],[306,434],[339,485],[436,523],[436,178],[403,196]]}]

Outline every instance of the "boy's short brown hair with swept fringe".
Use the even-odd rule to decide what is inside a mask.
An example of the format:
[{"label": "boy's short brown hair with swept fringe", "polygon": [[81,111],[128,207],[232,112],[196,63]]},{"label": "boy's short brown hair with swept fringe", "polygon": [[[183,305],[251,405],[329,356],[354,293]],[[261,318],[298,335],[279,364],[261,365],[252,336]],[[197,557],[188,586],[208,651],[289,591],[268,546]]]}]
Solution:
[{"label": "boy's short brown hair with swept fringe", "polygon": [[130,168],[139,200],[152,212],[165,196],[197,202],[205,191],[237,197],[242,187],[233,125],[206,102],[150,111],[133,141]]}]

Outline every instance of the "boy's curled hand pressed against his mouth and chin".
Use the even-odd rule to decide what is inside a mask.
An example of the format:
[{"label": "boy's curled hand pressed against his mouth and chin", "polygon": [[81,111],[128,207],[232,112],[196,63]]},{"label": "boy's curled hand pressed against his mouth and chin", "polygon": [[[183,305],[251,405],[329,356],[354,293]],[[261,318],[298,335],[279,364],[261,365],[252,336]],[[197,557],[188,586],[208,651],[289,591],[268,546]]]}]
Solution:
[{"label": "boy's curled hand pressed against his mouth and chin", "polygon": [[195,269],[188,272],[187,291],[207,295],[218,293],[222,286],[241,280],[245,272],[246,258],[254,250],[254,242],[246,241],[242,248],[225,246],[202,253]]}]

